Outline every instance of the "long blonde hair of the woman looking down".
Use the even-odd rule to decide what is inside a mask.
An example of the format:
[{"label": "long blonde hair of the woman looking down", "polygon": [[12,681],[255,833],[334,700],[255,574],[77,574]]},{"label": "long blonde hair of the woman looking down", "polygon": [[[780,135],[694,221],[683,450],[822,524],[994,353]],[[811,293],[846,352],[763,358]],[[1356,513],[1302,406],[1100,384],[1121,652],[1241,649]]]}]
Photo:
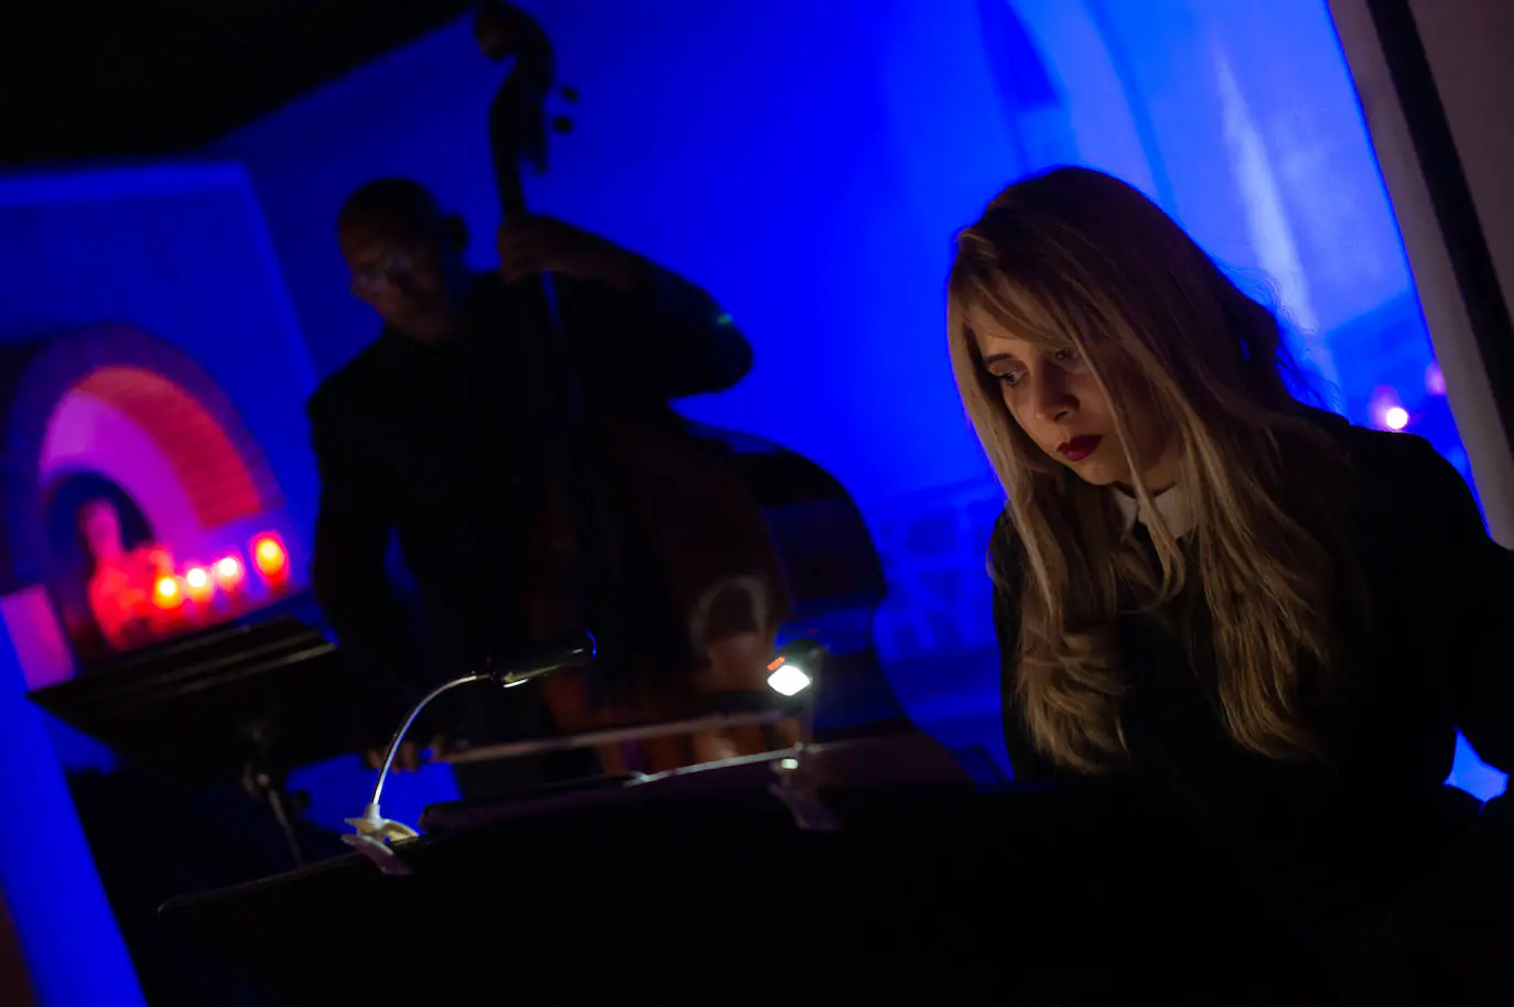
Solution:
[{"label": "long blonde hair of the woman looking down", "polygon": [[[1195,606],[1170,604],[1193,597],[1207,607],[1217,672],[1207,684],[1229,736],[1273,759],[1322,756],[1302,694],[1323,683],[1302,678],[1305,668],[1325,675],[1335,666],[1344,535],[1332,515],[1344,465],[1288,391],[1296,371],[1276,316],[1145,195],[1084,168],[1001,192],[958,235],[948,304],[961,400],[1008,497],[990,569],[1019,604],[1014,698],[1040,753],[1089,774],[1120,763],[1117,619],[1148,612],[1204,639]],[[1125,407],[1146,398],[1181,456],[1192,548],[1155,521],[1152,571],[1113,494],[1030,441],[983,366],[969,324],[978,318],[1083,354],[1110,401],[1132,489],[1155,513]],[[1304,471],[1290,477],[1285,456]]]}]

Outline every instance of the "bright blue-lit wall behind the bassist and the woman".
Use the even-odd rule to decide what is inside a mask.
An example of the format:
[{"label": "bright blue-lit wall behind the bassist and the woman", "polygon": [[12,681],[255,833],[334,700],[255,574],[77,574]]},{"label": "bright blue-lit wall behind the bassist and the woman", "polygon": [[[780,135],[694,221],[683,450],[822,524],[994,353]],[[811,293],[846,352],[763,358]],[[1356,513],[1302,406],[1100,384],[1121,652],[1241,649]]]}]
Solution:
[{"label": "bright blue-lit wall behind the bassist and the woman", "polygon": [[[1323,0],[524,6],[583,94],[533,203],[684,271],[745,327],[752,376],[687,412],[846,483],[890,569],[890,678],[945,733],[983,733],[996,706],[998,491],[952,389],[942,280],[952,230],[1016,176],[1129,179],[1285,309],[1344,412],[1399,406],[1466,471]],[[433,185],[489,262],[497,80],[459,23],[220,145],[251,167],[319,371],[374,333],[332,238],[359,182]]]}]

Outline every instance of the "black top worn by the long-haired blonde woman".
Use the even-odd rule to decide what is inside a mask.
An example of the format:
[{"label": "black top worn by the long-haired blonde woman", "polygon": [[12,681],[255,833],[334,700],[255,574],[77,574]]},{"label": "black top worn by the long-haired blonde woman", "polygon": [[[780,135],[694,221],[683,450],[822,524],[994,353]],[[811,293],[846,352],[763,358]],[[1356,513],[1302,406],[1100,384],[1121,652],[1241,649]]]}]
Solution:
[{"label": "black top worn by the long-haired blonde woman", "polygon": [[[1128,615],[1120,716],[1131,763],[1119,777],[1176,795],[1296,904],[1340,918],[1375,912],[1379,895],[1435,866],[1464,825],[1466,803],[1443,787],[1458,727],[1482,759],[1514,768],[1514,553],[1488,539],[1461,475],[1426,441],[1320,422],[1349,456],[1340,504],[1370,613],[1370,628],[1347,642],[1344,687],[1314,715],[1328,760],[1279,763],[1231,742],[1211,650]],[[995,615],[1010,762],[1017,780],[1070,780],[1036,753],[1023,724],[1004,521],[995,562],[1010,589],[996,592]]]}]

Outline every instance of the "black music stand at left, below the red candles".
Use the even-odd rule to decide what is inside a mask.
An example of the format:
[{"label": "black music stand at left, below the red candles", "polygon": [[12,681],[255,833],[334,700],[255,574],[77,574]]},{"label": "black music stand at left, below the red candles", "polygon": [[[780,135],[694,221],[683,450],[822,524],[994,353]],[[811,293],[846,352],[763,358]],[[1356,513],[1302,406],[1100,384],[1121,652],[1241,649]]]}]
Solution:
[{"label": "black music stand at left, below the red candles", "polygon": [[298,865],[289,769],[372,744],[372,692],[321,633],[277,618],[144,648],[29,698],[179,784],[241,781]]}]

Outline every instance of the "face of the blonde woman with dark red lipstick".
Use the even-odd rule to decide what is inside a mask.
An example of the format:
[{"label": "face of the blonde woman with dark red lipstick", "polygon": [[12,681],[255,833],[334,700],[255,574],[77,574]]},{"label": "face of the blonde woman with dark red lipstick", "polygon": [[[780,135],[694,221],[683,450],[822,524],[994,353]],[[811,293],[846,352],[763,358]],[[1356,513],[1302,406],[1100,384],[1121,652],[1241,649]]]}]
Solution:
[{"label": "face of the blonde woman with dark red lipstick", "polygon": [[[1010,416],[1046,457],[1095,486],[1134,483],[1110,403],[1076,348],[1026,342],[995,326],[974,332]],[[1122,380],[1119,368],[1110,379],[1117,388],[1136,385]],[[1146,395],[1125,395],[1122,404],[1146,488],[1161,492],[1178,482],[1176,451]]]}]

